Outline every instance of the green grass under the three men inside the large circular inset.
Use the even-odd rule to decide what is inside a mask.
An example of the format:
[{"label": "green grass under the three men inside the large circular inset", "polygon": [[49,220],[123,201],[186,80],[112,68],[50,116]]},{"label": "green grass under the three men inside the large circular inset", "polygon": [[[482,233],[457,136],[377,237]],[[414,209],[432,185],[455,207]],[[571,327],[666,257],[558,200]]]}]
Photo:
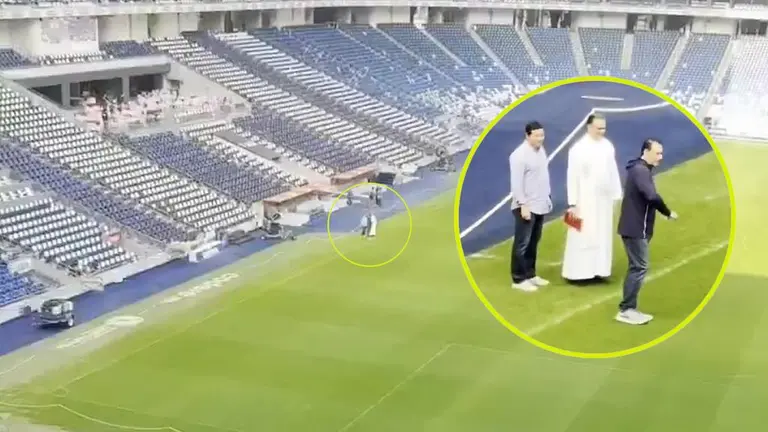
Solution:
[{"label": "green grass under the three men inside the large circular inset", "polygon": [[[688,161],[657,176],[657,187],[681,219],[657,221],[651,242],[651,271],[641,310],[656,319],[640,329],[609,323],[616,314],[627,260],[615,236],[613,275],[602,286],[566,285],[560,276],[565,224],[549,223],[539,248],[539,275],[553,282],[536,294],[511,290],[510,244],[469,257],[472,276],[505,319],[548,345],[581,353],[622,351],[663,335],[698,306],[717,279],[731,230],[728,185],[714,154]],[[618,209],[617,209],[618,210]],[[619,212],[615,212],[618,221]]]}]

